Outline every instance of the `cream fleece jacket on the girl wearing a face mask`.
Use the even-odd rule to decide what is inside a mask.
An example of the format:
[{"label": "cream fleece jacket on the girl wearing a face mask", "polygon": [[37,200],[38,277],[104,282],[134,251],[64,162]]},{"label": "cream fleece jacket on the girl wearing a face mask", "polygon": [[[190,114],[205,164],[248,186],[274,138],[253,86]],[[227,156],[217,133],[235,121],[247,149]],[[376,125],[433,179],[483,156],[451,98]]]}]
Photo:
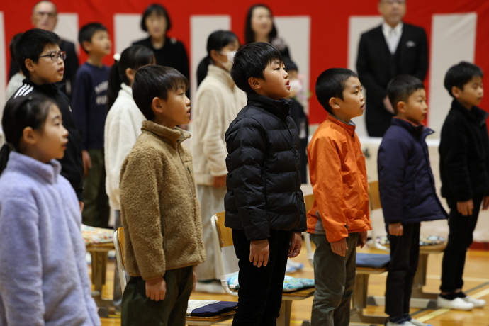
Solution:
[{"label": "cream fleece jacket on the girl wearing a face mask", "polygon": [[212,186],[214,176],[227,174],[224,136],[247,96],[231,74],[210,64],[192,103],[192,154],[196,183]]}]

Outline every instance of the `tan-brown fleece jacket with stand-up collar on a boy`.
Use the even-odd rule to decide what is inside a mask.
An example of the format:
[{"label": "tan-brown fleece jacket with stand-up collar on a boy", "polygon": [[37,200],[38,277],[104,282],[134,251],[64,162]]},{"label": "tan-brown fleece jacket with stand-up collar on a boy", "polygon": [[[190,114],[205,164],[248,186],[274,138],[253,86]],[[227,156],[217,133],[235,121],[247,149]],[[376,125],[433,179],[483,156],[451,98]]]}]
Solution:
[{"label": "tan-brown fleece jacket with stand-up collar on a boy", "polygon": [[190,134],[152,121],[120,170],[120,211],[125,269],[152,279],[204,262],[201,213],[192,156],[181,144]]}]

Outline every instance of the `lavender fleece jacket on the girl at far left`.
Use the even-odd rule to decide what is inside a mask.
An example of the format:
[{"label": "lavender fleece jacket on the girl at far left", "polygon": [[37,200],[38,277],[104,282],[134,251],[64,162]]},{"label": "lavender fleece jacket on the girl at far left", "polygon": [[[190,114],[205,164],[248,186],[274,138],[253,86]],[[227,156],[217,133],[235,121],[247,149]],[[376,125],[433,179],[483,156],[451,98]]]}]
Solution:
[{"label": "lavender fleece jacket on the girl at far left", "polygon": [[0,326],[98,326],[77,196],[60,175],[17,152],[0,176]]}]

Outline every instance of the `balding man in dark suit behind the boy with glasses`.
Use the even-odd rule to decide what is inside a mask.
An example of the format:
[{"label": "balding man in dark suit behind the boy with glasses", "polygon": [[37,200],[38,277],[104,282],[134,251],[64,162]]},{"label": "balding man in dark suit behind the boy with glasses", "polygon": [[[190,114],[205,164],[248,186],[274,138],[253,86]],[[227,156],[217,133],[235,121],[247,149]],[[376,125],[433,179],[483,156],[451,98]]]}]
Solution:
[{"label": "balding man in dark suit behind the boy with glasses", "polygon": [[[33,8],[33,16],[30,18],[33,26],[35,28],[40,28],[43,30],[49,30],[52,32],[55,30],[57,23],[57,8],[56,5],[51,1],[39,1],[35,4]],[[61,40],[60,50],[66,52],[66,60],[64,60],[64,76],[60,84],[64,84],[62,91],[67,94],[71,99],[72,90],[74,89],[74,77],[77,74],[77,69],[79,67],[77,51],[75,51],[74,43],[67,40]],[[19,68],[11,58],[9,79],[19,72]]]}]

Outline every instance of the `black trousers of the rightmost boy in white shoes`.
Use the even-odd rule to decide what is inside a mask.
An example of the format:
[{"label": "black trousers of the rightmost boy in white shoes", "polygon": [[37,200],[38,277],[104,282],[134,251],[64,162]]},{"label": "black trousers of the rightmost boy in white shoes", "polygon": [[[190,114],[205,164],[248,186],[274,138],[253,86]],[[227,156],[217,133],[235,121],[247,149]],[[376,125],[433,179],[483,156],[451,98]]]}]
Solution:
[{"label": "black trousers of the rightmost boy in white shoes", "polygon": [[473,240],[473,230],[476,228],[482,195],[474,196],[471,216],[463,216],[456,208],[456,201],[447,201],[449,214],[449,239],[442,261],[442,292],[452,293],[463,287],[463,267],[468,247]]}]

